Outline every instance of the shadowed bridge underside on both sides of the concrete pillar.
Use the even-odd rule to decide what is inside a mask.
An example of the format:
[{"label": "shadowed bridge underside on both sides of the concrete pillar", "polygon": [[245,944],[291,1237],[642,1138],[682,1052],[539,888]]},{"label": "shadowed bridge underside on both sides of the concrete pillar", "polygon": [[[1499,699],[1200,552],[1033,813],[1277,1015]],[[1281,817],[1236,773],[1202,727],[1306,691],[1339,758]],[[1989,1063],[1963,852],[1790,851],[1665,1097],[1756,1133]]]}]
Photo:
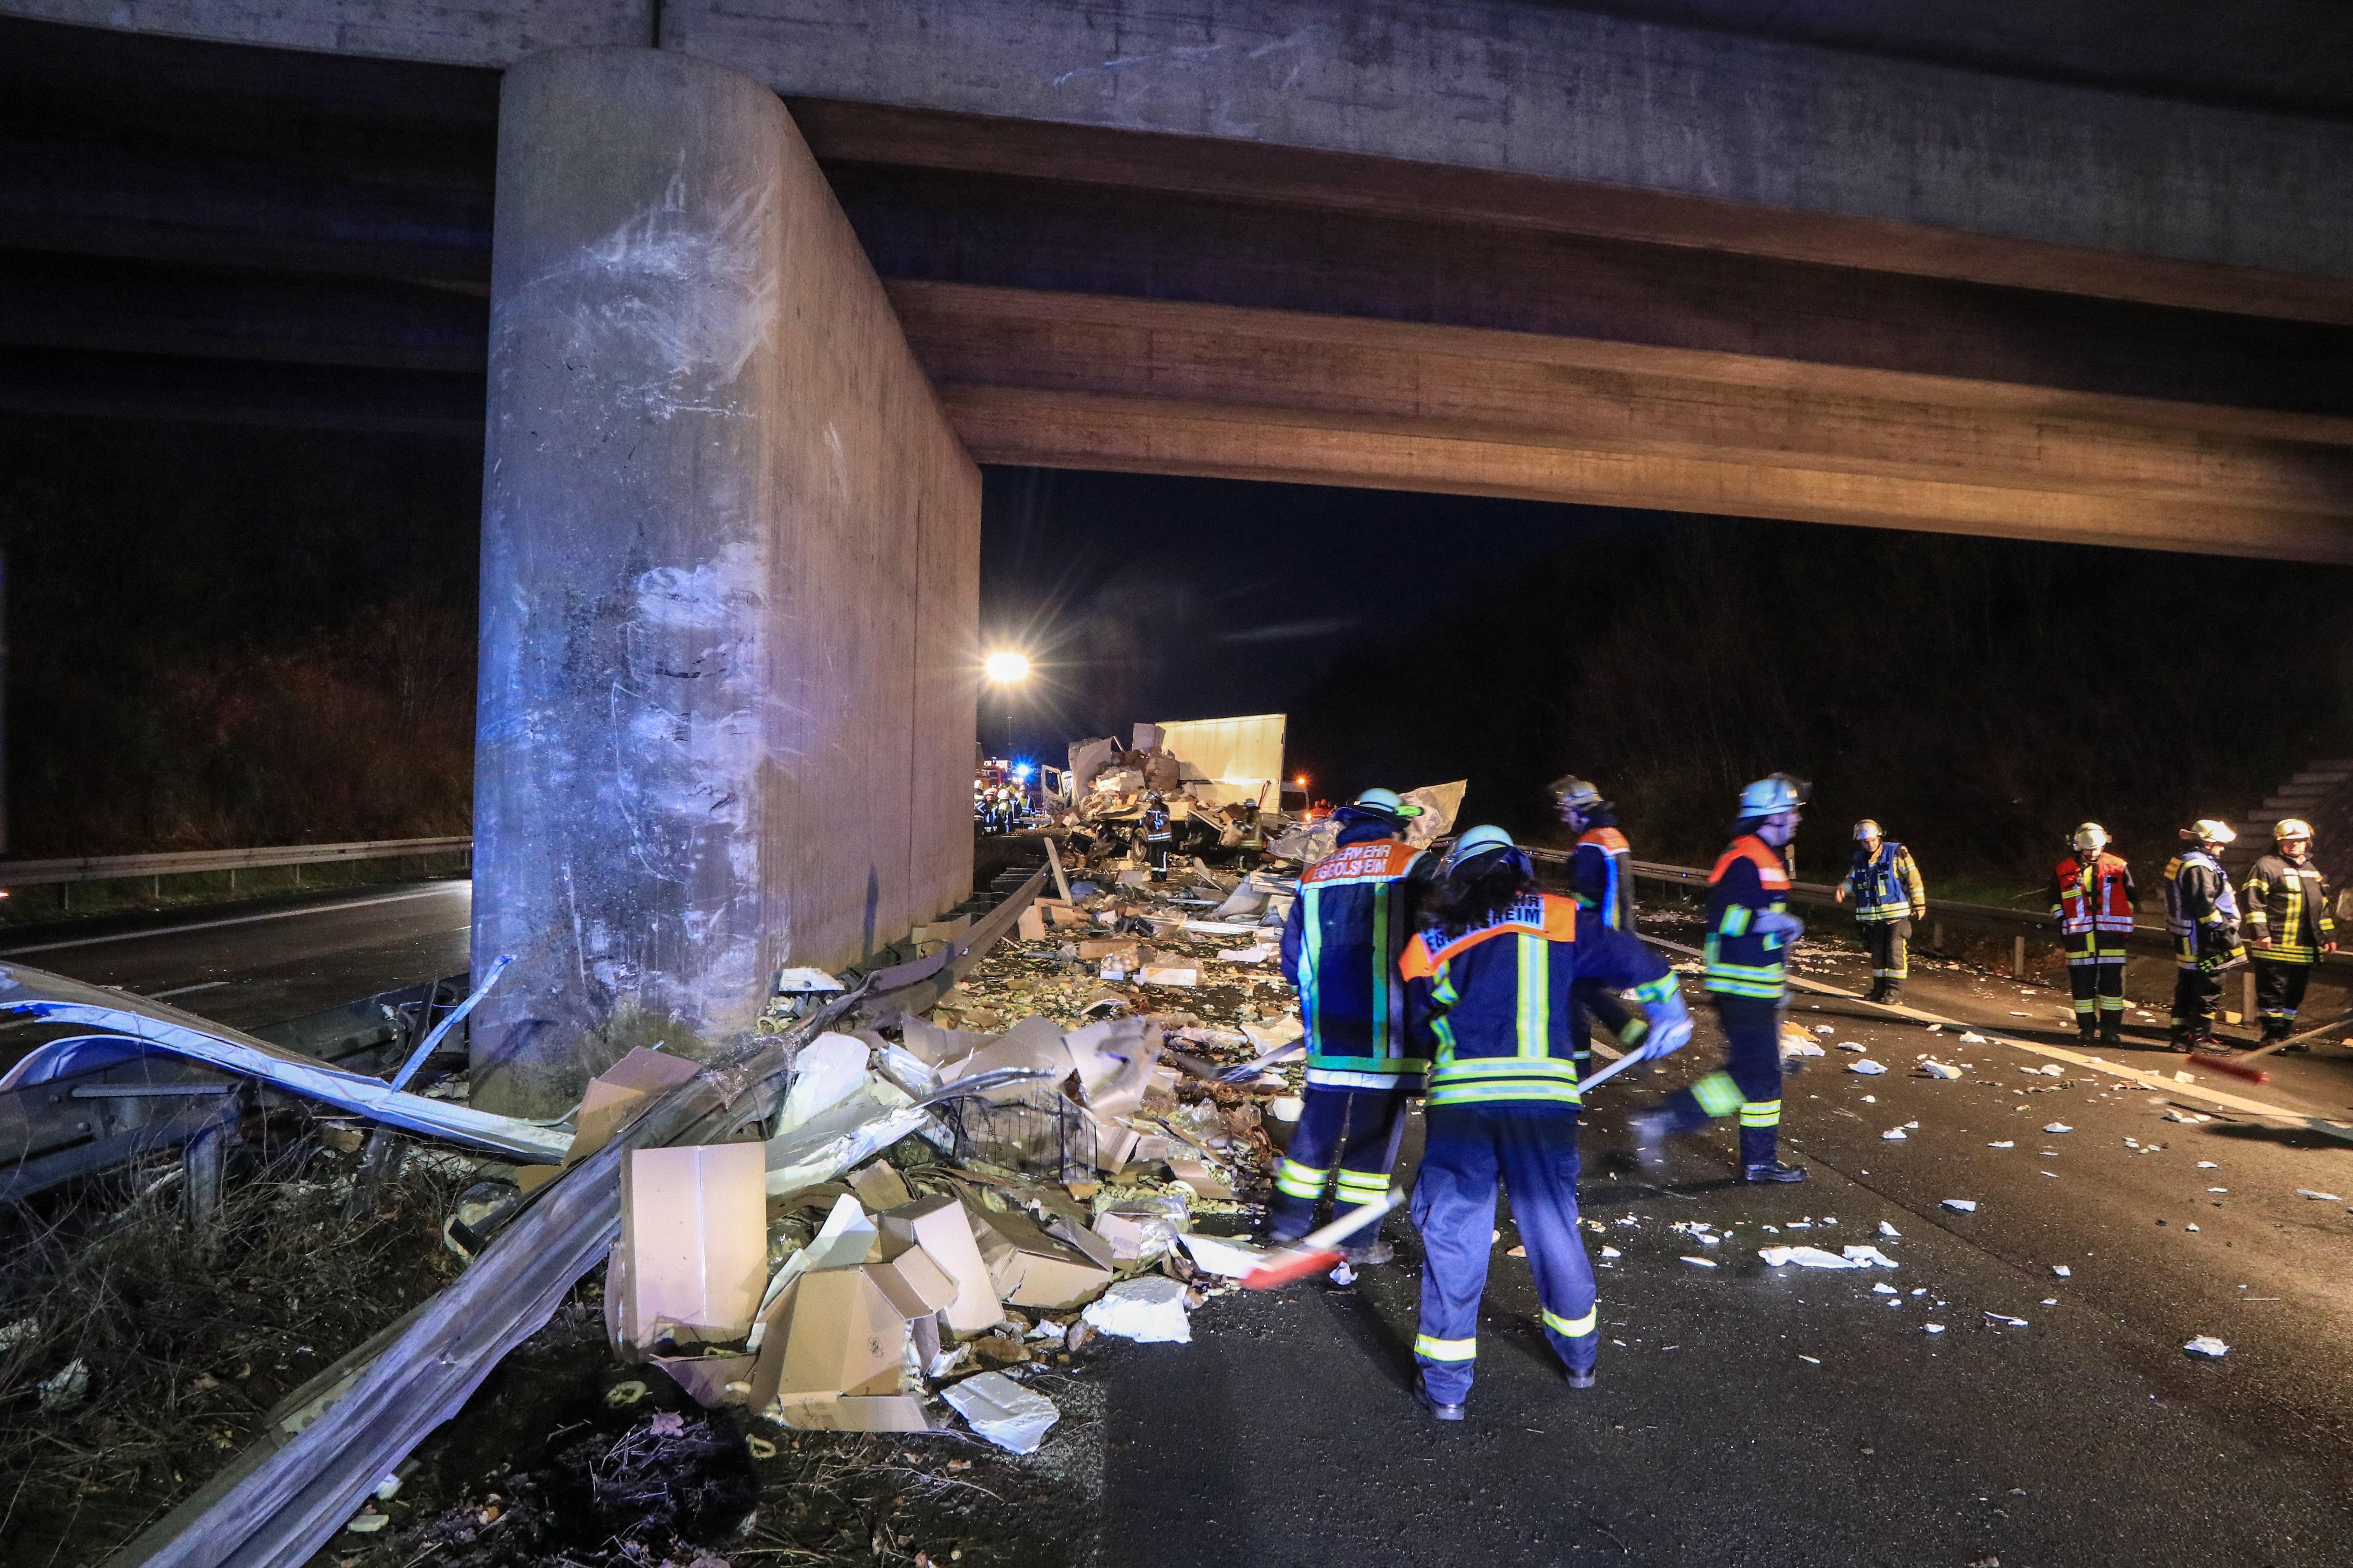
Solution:
[{"label": "shadowed bridge underside on both sides of the concrete pillar", "polygon": [[[480,433],[494,71],[0,28],[0,407]],[[2353,562],[2346,280],[786,103],[984,463]]]}]

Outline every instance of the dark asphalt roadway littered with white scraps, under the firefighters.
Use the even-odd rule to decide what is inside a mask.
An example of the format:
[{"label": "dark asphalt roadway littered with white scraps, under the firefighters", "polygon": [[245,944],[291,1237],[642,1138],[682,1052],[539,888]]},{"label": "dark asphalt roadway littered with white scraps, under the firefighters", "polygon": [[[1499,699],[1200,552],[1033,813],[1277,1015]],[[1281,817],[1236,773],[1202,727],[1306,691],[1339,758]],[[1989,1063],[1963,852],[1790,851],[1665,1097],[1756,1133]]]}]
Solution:
[{"label": "dark asphalt roadway littered with white scraps, under the firefighters", "polygon": [[[1861,983],[1852,957],[1814,973]],[[1906,1001],[2073,1044],[2047,987],[1937,969]],[[1793,1018],[1828,1025],[1786,1086],[1802,1185],[1732,1185],[1729,1131],[1659,1182],[1624,1159],[1624,1112],[1713,1067],[1713,1023],[1659,1079],[1598,1091],[1600,1387],[1560,1382],[1504,1220],[1471,1418],[1431,1422],[1407,1394],[1419,1246],[1393,1215],[1398,1262],[1353,1288],[1226,1295],[1191,1345],[1118,1347],[1104,1561],[2353,1561],[2353,1143],[1861,1006],[1800,997]],[[1920,1077],[1925,1056],[1962,1077]],[[2111,1056],[2184,1067],[2155,1041]],[[1864,1058],[1887,1072],[1849,1072]],[[2275,1084],[2207,1081],[2353,1117],[2339,1046]],[[1417,1143],[1419,1121],[1407,1161]],[[1767,1267],[1772,1244],[1878,1244],[1897,1267]],[[2231,1349],[2191,1359],[2193,1335]]]}]

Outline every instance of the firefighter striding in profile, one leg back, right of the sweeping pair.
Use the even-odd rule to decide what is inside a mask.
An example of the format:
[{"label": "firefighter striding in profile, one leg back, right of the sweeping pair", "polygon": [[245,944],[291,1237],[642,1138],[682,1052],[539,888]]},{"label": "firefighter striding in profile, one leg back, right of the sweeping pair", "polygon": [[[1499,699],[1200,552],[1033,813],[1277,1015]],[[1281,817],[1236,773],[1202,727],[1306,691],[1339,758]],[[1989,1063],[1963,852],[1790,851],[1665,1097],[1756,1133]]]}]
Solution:
[{"label": "firefighter striding in profile, one leg back, right of the sweeping pair", "polygon": [[1732,846],[1708,872],[1706,987],[1725,1027],[1725,1065],[1626,1119],[1649,1171],[1666,1164],[1671,1133],[1739,1112],[1741,1180],[1805,1180],[1805,1166],[1781,1164],[1781,1004],[1788,952],[1805,936],[1805,922],[1788,912],[1788,844],[1805,795],[1805,780],[1788,773],[1741,790]]}]

